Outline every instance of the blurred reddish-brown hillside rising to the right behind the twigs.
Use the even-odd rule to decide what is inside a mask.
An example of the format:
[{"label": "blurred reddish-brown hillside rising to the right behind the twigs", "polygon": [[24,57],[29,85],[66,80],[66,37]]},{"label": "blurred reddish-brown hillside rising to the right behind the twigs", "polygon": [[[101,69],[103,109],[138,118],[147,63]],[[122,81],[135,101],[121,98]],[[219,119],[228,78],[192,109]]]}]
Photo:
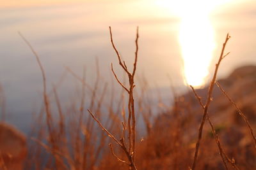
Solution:
[{"label": "blurred reddish-brown hillside rising to the right behind the twigs", "polygon": [[[255,130],[256,66],[239,67],[218,82]],[[208,87],[196,90],[202,101],[207,96],[207,90]],[[192,91],[176,97],[175,101],[172,109],[159,114],[150,134],[138,144],[138,169],[188,169],[191,166],[203,110]],[[230,160],[239,169],[256,169],[256,150],[250,131],[217,86],[214,87],[209,115]],[[122,166],[113,155],[106,157],[101,164],[102,169],[120,169]],[[227,163],[227,166],[233,169],[231,164]],[[208,122],[205,122],[197,169],[225,169]]]}]

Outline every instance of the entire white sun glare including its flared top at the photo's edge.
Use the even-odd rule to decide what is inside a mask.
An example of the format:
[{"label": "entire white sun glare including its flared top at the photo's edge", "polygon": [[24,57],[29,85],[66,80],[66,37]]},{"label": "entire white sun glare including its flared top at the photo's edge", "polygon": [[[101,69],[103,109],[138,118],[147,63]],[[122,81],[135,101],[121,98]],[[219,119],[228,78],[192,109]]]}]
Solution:
[{"label": "entire white sun glare including its flared top at the photo's edge", "polygon": [[216,6],[229,1],[231,0],[157,1],[163,6],[169,6],[172,14],[180,18],[179,43],[186,85],[200,87],[209,76],[209,65],[216,44],[209,14]]}]

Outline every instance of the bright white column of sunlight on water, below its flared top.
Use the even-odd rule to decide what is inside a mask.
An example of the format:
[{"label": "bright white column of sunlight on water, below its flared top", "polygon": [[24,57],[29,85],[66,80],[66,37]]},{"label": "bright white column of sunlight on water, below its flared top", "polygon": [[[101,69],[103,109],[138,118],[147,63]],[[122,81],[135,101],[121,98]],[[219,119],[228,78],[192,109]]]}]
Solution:
[{"label": "bright white column of sunlight on water, below its flared top", "polygon": [[204,85],[215,47],[214,31],[207,15],[189,14],[183,17],[179,32],[184,81],[188,85]]}]

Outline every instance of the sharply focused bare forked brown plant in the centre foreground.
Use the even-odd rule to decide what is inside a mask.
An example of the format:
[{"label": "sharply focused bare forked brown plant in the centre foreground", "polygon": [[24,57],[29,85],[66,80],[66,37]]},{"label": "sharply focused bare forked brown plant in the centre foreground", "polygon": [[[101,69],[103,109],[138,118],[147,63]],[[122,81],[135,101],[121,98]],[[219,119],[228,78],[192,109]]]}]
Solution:
[{"label": "sharply focused bare forked brown plant in the centre foreground", "polygon": [[136,73],[136,65],[137,65],[137,59],[138,59],[138,38],[139,38],[139,33],[138,33],[138,27],[137,27],[137,33],[136,33],[136,40],[135,40],[135,44],[136,44],[136,51],[135,51],[135,60],[134,60],[134,64],[133,64],[133,70],[132,73],[130,73],[130,71],[128,71],[127,66],[125,64],[124,61],[121,60],[120,54],[118,52],[118,50],[116,50],[115,44],[113,42],[113,36],[112,36],[112,31],[111,31],[111,27],[109,27],[109,32],[110,32],[110,38],[111,38],[111,44],[116,52],[116,55],[118,57],[118,62],[120,64],[120,66],[122,67],[122,69],[124,69],[125,73],[127,74],[128,78],[129,78],[129,88],[125,87],[125,85],[123,85],[121,83],[121,81],[118,79],[118,77],[116,76],[115,71],[113,70],[113,64],[111,64],[111,70],[116,78],[116,81],[118,81],[118,83],[120,84],[120,86],[129,94],[129,101],[128,101],[128,120],[127,120],[127,127],[128,127],[128,143],[129,146],[126,146],[125,143],[125,131],[126,131],[126,125],[124,124],[124,122],[122,122],[123,125],[123,131],[122,131],[122,137],[121,139],[116,139],[115,136],[113,136],[113,134],[111,134],[101,123],[100,121],[93,115],[93,113],[89,111],[90,115],[92,115],[93,119],[100,125],[100,127],[108,134],[108,136],[110,138],[112,138],[115,143],[117,145],[120,146],[120,148],[122,148],[122,150],[124,150],[125,155],[127,156],[127,159],[129,160],[129,163],[125,160],[122,160],[120,158],[118,158],[116,156],[116,154],[113,151],[113,148],[111,146],[111,144],[109,144],[109,147],[111,149],[111,152],[113,153],[113,155],[116,157],[116,159],[120,162],[123,162],[125,164],[129,165],[129,169],[136,169],[136,166],[134,164],[134,158],[135,158],[135,143],[136,143],[136,117],[135,117],[135,110],[134,110],[134,97],[133,97],[133,89],[135,87],[134,85],[134,75]]}]

